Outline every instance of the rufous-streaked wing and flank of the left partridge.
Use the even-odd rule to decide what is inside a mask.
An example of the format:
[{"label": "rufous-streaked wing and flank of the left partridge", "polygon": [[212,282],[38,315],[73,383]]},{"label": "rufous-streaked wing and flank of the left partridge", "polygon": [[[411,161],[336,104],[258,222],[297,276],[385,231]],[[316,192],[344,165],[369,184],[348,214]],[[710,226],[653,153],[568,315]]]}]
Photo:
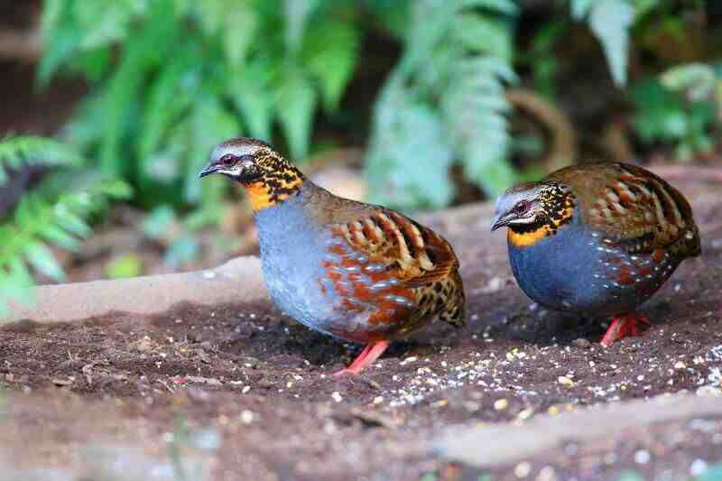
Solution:
[{"label": "rufous-streaked wing and flank of the left partridge", "polygon": [[373,310],[369,322],[398,323],[402,333],[434,315],[463,323],[458,260],[441,236],[387,209],[335,223],[331,233],[326,268],[345,309]]}]

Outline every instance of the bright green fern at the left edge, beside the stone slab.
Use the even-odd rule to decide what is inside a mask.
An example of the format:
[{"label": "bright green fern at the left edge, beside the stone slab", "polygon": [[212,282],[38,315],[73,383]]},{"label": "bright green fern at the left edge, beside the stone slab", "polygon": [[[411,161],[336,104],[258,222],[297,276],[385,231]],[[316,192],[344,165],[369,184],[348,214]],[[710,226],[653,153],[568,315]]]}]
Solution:
[{"label": "bright green fern at the left edge, beside the stone slab", "polygon": [[[31,269],[63,279],[50,245],[77,249],[79,239],[92,233],[88,219],[109,201],[131,195],[125,182],[106,180],[65,144],[39,137],[0,141],[0,171],[18,171],[28,164],[50,170],[0,221],[0,315],[7,311],[8,300],[27,300],[26,288],[33,285]],[[4,175],[0,188],[6,181]]]}]

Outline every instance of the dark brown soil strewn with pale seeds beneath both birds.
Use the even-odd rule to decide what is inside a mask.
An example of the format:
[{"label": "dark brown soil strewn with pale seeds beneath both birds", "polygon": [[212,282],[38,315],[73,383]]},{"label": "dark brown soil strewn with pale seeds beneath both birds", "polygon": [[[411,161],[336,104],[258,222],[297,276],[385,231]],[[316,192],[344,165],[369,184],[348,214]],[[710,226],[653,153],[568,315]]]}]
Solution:
[{"label": "dark brown soil strewn with pale seeds beneath both birds", "polygon": [[178,306],[154,319],[117,313],[53,326],[23,321],[0,329],[8,392],[0,445],[17,469],[82,471],[83,453],[98,445],[165,458],[184,421],[191,433],[218,432],[218,449],[201,456],[213,479],[603,479],[627,468],[687,476],[700,462],[722,459],[722,420],[569,443],[484,472],[432,448],[449,425],[718,389],[722,225],[720,204],[702,197],[695,208],[704,254],[682,264],[644,308],[653,326],[641,338],[602,348],[598,319],[533,305],[514,285],[504,236],[490,236],[486,222],[449,217],[444,232],[463,266],[467,328],[436,323],[393,345],[363,375],[337,378],[330,373],[358,347],[262,305]]}]

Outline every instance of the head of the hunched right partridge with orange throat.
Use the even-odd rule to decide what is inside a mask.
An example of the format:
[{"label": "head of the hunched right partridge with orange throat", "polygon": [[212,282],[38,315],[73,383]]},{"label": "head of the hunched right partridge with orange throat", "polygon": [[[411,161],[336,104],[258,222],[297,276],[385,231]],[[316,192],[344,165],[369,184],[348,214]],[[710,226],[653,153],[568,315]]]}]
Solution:
[{"label": "head of the hunched right partridge with orange throat", "polygon": [[509,227],[509,239],[515,245],[532,245],[567,224],[574,204],[571,190],[558,182],[521,184],[496,200],[491,230]]}]

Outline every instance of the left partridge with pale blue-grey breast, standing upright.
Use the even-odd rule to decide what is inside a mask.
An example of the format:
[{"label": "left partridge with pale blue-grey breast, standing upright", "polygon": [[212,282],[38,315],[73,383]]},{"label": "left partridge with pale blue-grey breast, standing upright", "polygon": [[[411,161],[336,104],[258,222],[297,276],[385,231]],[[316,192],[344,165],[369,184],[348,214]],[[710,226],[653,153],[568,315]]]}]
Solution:
[{"label": "left partridge with pale blue-grey breast, standing upright", "polygon": [[212,173],[245,188],[276,305],[309,328],[366,344],[337,374],[360,373],[389,341],[435,317],[465,323],[457,256],[430,228],[334,196],[259,140],[219,144],[199,175]]}]

